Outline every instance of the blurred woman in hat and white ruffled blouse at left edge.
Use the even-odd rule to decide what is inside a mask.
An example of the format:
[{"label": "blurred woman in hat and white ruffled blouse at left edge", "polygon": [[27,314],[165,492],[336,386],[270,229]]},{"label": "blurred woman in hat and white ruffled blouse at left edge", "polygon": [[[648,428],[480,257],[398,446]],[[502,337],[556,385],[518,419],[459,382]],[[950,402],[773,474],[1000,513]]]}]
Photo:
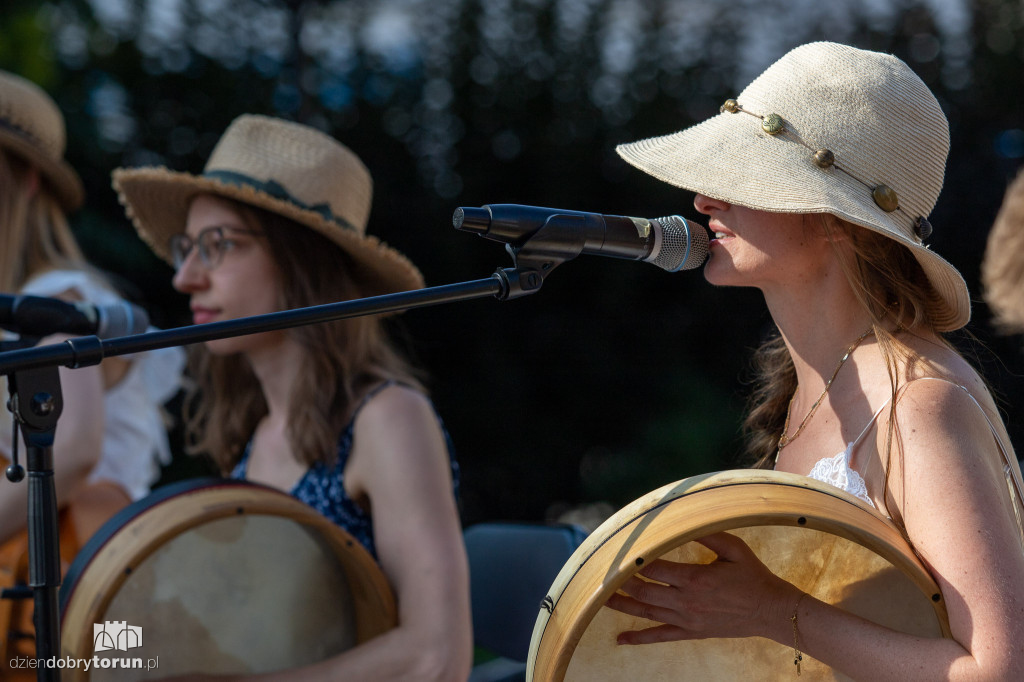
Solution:
[{"label": "blurred woman in hat and white ruffled blouse at left edge", "polygon": [[[63,160],[65,143],[63,117],[53,100],[34,83],[0,72],[0,292],[123,304],[86,262],[69,226],[68,214],[81,206],[83,189]],[[145,496],[161,465],[170,462],[162,404],[178,391],[183,365],[183,351],[172,348],[60,370],[65,408],[53,451],[65,561],[117,510]],[[6,382],[4,393],[6,400]],[[0,455],[6,459],[11,425],[5,412]],[[24,444],[19,450],[25,452]],[[0,551],[6,585],[25,579],[27,504],[26,481],[0,479],[0,539],[9,541]],[[12,606],[0,603],[5,623],[18,619]]]}]

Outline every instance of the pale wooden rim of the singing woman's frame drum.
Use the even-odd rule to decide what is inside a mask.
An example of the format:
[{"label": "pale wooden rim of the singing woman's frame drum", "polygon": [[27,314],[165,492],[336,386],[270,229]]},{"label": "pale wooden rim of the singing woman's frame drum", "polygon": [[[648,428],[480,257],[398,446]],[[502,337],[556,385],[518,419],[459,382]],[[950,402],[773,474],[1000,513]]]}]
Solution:
[{"label": "pale wooden rim of the singing woman's frame drum", "polygon": [[[674,504],[686,499],[686,504]],[[949,637],[941,592],[888,518],[838,487],[770,470],[723,471],[665,485],[627,505],[569,557],[541,604],[527,657],[527,682],[561,681],[587,628],[604,603],[647,561],[705,536],[781,525],[829,532],[865,547],[902,571],[928,598]],[[585,571],[585,566],[588,570]],[[588,580],[590,567],[603,579]],[[572,623],[552,628],[569,609]],[[538,662],[544,662],[539,666]]]}]

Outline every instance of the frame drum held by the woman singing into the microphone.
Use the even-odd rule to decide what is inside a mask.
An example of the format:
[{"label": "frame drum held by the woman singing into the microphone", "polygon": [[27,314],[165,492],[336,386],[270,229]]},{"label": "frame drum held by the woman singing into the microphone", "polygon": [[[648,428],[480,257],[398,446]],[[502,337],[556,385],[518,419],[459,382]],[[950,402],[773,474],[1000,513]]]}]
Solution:
[{"label": "frame drum held by the woman singing into the microphone", "polygon": [[[725,471],[660,487],[598,527],[555,579],[530,641],[527,681],[786,680],[792,645],[766,638],[618,646],[650,621],[604,607],[657,558],[709,563],[692,541],[728,531],[801,590],[894,630],[948,637],[945,604],[896,527],[857,498],[805,476]],[[845,680],[804,654],[802,680]]]}]

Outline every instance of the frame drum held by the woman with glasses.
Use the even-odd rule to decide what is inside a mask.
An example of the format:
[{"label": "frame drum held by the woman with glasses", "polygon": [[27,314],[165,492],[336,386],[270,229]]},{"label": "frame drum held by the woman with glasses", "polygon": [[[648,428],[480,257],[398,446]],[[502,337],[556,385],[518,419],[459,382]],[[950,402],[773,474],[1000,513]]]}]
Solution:
[{"label": "frame drum held by the woman with glasses", "polygon": [[112,518],[69,568],[60,611],[72,681],[283,670],[396,624],[354,538],[285,493],[222,479],[159,488]]}]

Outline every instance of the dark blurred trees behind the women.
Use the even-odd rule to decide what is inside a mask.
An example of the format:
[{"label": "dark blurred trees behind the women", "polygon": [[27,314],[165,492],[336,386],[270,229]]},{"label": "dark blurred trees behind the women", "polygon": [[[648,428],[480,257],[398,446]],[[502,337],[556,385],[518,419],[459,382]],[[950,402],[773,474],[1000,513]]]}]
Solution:
[{"label": "dark blurred trees behind the women", "polygon": [[[260,113],[322,128],[376,180],[370,230],[429,285],[510,264],[457,232],[459,206],[519,203],[698,217],[692,196],[614,146],[717,112],[792,47],[895,53],[936,92],[952,152],[933,248],[976,299],[954,341],[1024,437],[1021,341],[993,335],[978,272],[1024,158],[1020,0],[5,0],[0,68],[69,122],[88,190],[75,228],[160,325],[187,324],[170,269],[110,187],[121,165],[198,172],[227,124]],[[599,520],[635,497],[736,466],[756,292],[699,272],[583,257],[523,299],[414,310],[396,330],[431,376],[464,472],[464,521]],[[179,456],[164,480],[202,467]],[[589,512],[588,512],[589,510]]]}]

